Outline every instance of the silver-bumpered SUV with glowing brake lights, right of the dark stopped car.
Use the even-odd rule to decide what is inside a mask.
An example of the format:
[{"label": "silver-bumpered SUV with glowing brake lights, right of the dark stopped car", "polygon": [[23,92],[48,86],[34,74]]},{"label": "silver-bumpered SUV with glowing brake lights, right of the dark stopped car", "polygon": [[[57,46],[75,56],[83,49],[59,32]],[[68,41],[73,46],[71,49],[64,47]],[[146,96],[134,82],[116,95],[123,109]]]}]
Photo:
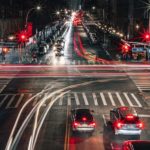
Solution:
[{"label": "silver-bumpered SUV with glowing brake lights, right of the dark stopped car", "polygon": [[115,135],[137,135],[144,127],[135,110],[130,107],[114,108],[110,111],[110,122]]}]

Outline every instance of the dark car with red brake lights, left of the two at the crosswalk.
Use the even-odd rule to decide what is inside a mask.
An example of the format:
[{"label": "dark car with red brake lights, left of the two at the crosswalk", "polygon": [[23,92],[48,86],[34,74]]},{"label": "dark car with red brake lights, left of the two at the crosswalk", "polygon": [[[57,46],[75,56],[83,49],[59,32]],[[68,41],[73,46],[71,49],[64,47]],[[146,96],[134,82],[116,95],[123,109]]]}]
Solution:
[{"label": "dark car with red brake lights, left of the two at the crosswalk", "polygon": [[92,132],[95,130],[95,121],[89,109],[73,109],[71,111],[72,131]]}]

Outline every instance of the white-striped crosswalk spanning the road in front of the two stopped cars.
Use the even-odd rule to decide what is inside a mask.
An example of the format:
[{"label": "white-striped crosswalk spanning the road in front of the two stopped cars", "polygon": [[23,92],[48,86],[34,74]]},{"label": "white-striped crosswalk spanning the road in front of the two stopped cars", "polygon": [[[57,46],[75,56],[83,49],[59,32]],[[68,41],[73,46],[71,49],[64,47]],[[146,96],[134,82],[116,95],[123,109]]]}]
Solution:
[{"label": "white-striped crosswalk spanning the road in front of the two stopped cars", "polygon": [[[32,106],[47,96],[44,93],[35,97]],[[34,93],[0,94],[0,109],[18,108],[22,106]],[[56,95],[57,96],[57,95]],[[71,92],[61,97],[55,106],[131,106],[143,107],[145,103],[136,93],[128,92]]]}]

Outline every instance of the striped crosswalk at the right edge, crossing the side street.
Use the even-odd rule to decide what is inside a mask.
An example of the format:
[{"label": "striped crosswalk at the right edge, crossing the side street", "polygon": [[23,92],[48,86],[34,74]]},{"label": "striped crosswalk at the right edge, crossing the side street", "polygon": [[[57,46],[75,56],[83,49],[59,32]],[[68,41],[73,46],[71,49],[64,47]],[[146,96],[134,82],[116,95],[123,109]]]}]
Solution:
[{"label": "striped crosswalk at the right edge, crossing the side street", "polygon": [[150,92],[150,77],[149,76],[132,76],[130,77],[140,92]]}]

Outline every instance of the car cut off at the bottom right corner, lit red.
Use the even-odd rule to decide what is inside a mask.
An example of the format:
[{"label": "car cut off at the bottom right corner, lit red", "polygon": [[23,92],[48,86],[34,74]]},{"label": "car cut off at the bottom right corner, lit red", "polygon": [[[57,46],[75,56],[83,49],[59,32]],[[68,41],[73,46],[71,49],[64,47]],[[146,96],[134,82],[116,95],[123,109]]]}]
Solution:
[{"label": "car cut off at the bottom right corner, lit red", "polygon": [[129,140],[122,145],[122,150],[150,150],[150,141]]}]

